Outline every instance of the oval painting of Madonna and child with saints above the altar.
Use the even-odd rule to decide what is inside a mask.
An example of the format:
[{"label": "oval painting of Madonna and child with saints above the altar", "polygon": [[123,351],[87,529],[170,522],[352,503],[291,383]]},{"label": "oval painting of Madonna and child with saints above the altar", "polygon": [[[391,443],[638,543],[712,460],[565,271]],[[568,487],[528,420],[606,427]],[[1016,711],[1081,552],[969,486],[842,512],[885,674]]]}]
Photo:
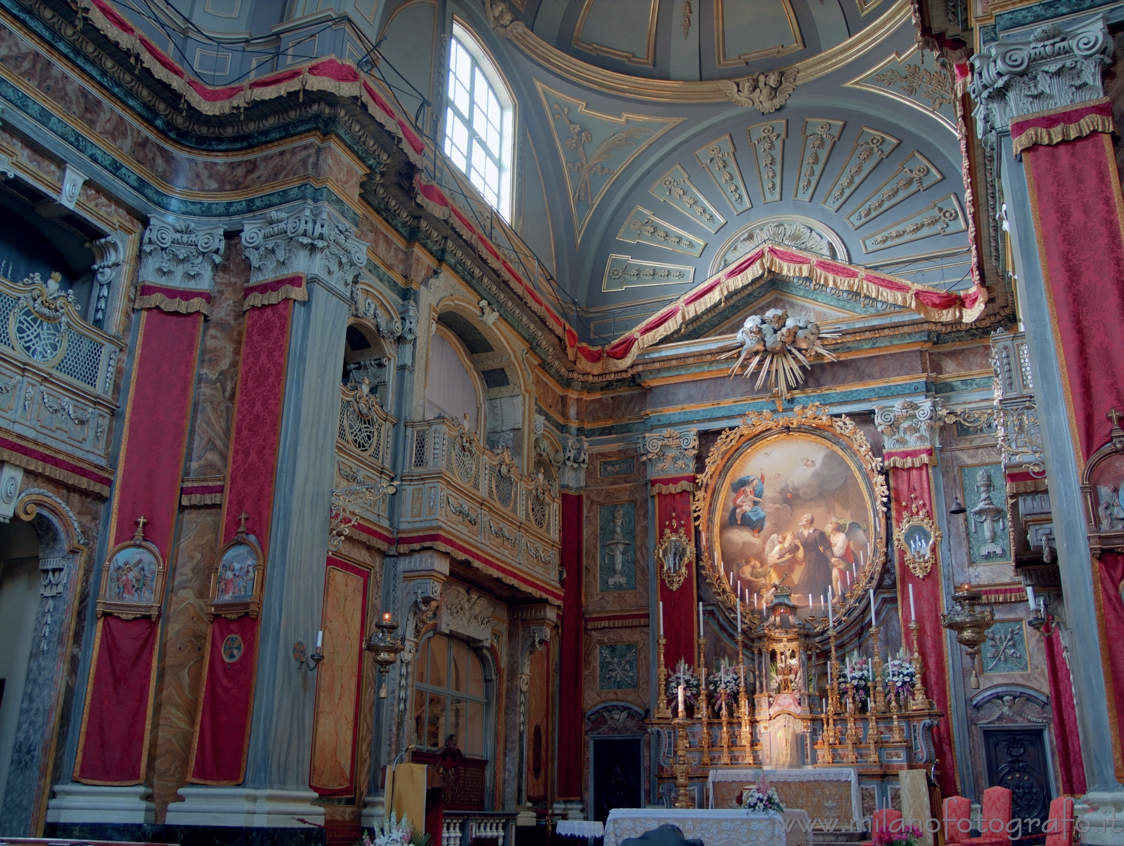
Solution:
[{"label": "oval painting of Madonna and child with saints above the altar", "polygon": [[845,592],[870,557],[864,490],[847,461],[812,437],[770,438],[736,460],[718,535],[724,575],[741,582],[742,601],[767,607],[783,580],[801,616],[825,615],[827,589]]}]

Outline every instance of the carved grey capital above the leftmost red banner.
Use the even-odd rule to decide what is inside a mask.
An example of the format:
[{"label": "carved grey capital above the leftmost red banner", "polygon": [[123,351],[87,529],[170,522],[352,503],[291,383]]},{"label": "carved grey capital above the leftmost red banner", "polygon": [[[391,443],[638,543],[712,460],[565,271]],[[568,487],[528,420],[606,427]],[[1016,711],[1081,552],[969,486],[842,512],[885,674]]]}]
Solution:
[{"label": "carved grey capital above the leftmost red banner", "polygon": [[221,227],[202,228],[190,220],[153,220],[140,243],[138,279],[166,288],[210,290],[224,246]]}]

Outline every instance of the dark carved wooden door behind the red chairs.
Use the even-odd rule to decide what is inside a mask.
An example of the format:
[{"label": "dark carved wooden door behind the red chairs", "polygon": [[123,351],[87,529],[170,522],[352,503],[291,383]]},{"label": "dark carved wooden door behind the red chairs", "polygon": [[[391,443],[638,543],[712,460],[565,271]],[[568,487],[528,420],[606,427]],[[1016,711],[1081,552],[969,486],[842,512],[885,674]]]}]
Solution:
[{"label": "dark carved wooden door behind the red chairs", "polygon": [[1024,838],[1042,831],[1050,811],[1053,792],[1046,743],[1046,733],[1041,728],[984,729],[988,786],[1012,792],[1010,818],[1023,820]]}]

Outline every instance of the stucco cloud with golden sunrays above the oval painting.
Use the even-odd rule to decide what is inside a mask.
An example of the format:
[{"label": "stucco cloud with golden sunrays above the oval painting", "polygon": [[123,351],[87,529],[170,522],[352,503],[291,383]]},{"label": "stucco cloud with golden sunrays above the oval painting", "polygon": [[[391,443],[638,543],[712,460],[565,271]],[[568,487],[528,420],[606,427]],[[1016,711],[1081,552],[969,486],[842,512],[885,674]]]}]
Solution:
[{"label": "stucco cloud with golden sunrays above the oval painting", "polygon": [[[835,361],[835,356],[819,344],[822,337],[836,335],[824,334],[819,324],[805,317],[789,317],[783,309],[769,309],[763,317],[751,315],[737,330],[734,343],[741,347],[741,354],[729,369],[729,376],[733,379],[742,362],[753,353],[753,358],[745,369],[745,377],[749,379],[760,364],[761,373],[755,388],[761,388],[768,379],[769,386],[781,399],[788,399],[789,389],[804,382],[801,365],[812,370],[808,358],[822,355]],[[737,349],[733,349],[718,357],[729,358],[737,353]]]}]

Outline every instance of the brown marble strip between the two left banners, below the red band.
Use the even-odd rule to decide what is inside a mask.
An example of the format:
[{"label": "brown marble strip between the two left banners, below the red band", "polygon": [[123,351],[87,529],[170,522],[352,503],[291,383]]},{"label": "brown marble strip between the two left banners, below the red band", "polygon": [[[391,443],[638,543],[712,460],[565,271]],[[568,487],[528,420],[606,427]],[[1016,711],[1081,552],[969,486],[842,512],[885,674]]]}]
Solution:
[{"label": "brown marble strip between the two left banners, below the red band", "polygon": [[209,571],[218,548],[220,520],[218,507],[182,511],[170,562],[171,590],[161,631],[151,744],[157,822],[164,821],[169,803],[179,801],[175,791],[188,781],[209,629],[205,616]]}]

